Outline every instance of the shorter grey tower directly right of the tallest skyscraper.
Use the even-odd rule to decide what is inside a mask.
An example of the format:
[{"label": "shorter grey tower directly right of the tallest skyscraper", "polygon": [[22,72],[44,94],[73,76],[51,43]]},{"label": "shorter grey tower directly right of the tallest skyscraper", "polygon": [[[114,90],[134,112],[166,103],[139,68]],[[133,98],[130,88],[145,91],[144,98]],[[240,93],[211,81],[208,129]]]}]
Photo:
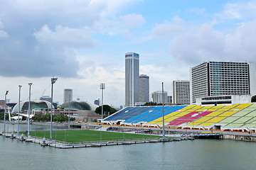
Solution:
[{"label": "shorter grey tower directly right of the tallest skyscraper", "polygon": [[149,102],[149,77],[145,74],[139,75],[139,103]]}]

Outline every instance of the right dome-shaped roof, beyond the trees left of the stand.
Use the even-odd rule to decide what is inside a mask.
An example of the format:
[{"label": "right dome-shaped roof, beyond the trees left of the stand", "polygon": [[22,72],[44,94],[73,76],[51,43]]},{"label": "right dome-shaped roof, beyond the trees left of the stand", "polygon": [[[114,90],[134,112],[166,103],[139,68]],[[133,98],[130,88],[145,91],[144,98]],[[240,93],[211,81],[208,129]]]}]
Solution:
[{"label": "right dome-shaped roof, beyond the trees left of the stand", "polygon": [[82,111],[95,111],[95,109],[97,108],[97,105],[92,103],[87,103],[85,101],[70,101],[70,102],[63,103],[60,106],[60,109],[67,109],[67,108],[78,109]]}]

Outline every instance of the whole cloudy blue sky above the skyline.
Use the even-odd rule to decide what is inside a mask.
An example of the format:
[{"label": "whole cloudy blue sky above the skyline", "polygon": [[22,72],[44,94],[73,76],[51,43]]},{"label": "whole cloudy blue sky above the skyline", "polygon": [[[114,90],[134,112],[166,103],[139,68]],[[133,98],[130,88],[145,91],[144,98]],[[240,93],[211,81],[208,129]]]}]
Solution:
[{"label": "whole cloudy blue sky above the skyline", "polygon": [[50,96],[124,105],[124,55],[139,54],[150,93],[207,61],[256,62],[256,1],[0,0],[0,99]]}]

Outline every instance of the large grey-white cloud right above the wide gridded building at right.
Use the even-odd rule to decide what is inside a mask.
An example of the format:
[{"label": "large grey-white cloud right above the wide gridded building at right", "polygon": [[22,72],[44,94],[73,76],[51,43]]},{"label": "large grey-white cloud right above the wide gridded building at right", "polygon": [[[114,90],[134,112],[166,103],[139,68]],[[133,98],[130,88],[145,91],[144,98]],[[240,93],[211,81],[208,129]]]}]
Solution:
[{"label": "large grey-white cloud right above the wide gridded building at right", "polygon": [[171,55],[189,65],[207,60],[256,62],[256,21],[243,23],[228,35],[214,30],[213,25],[203,23],[187,30],[186,34],[177,35],[170,42]]}]

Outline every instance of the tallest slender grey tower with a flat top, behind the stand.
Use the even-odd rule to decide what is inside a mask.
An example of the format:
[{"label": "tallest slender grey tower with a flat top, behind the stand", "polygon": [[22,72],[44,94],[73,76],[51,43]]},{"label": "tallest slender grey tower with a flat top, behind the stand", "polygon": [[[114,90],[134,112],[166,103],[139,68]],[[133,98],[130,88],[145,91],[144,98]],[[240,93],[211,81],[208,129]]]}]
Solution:
[{"label": "tallest slender grey tower with a flat top, behind the stand", "polygon": [[139,54],[125,54],[125,106],[139,101]]}]

